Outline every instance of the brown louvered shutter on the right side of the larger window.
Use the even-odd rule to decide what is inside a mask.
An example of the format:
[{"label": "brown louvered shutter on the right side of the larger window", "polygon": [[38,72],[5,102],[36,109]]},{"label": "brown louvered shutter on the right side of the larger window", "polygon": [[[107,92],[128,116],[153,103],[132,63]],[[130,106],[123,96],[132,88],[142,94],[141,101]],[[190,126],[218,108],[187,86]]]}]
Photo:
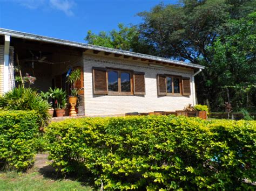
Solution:
[{"label": "brown louvered shutter on the right side of the larger window", "polygon": [[134,95],[145,95],[145,73],[133,72]]}]

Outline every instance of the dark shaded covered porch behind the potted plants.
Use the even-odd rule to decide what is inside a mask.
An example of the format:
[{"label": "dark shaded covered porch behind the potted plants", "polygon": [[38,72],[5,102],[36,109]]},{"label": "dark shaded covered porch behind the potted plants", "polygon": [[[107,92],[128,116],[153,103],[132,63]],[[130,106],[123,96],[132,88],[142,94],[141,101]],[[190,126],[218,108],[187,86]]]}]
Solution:
[{"label": "dark shaded covered porch behind the potted plants", "polygon": [[[12,87],[17,87],[20,83],[17,82],[17,77],[29,75],[36,80],[33,83],[24,83],[25,87],[36,89],[38,93],[41,91],[45,93],[49,88],[62,88],[67,95],[70,95],[70,84],[66,82],[67,73],[79,68],[82,72],[81,79],[76,84],[80,89],[77,106],[80,106],[80,110],[82,108],[80,115],[84,115],[83,48],[15,37],[11,39],[10,47],[13,49],[9,67],[11,76],[9,83]],[[65,116],[69,116],[69,105],[66,107]]]}]

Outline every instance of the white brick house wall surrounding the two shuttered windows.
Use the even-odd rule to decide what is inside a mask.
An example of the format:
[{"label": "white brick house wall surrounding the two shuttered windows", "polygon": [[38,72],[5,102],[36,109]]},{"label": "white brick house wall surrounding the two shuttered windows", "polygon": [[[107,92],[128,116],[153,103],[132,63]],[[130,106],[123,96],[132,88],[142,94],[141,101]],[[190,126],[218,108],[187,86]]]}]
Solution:
[{"label": "white brick house wall surrounding the two shuttered windows", "polygon": [[[146,95],[144,96],[111,96],[94,95],[92,84],[92,67],[114,67],[120,69],[132,69],[137,72],[145,72]],[[157,74],[173,74],[190,77],[192,70],[182,68],[156,68],[146,63],[133,60],[122,60],[103,56],[84,55],[84,87],[85,87],[85,115],[120,115],[126,112],[153,112],[175,111],[193,103],[192,94],[184,96],[158,96]]]}]

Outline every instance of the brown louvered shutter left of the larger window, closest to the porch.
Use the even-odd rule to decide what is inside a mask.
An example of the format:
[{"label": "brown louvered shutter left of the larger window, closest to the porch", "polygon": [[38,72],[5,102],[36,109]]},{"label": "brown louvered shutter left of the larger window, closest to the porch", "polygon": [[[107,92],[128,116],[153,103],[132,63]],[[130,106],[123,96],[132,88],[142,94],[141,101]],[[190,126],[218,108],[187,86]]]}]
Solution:
[{"label": "brown louvered shutter left of the larger window, closest to the porch", "polygon": [[93,94],[107,94],[106,68],[92,68]]}]

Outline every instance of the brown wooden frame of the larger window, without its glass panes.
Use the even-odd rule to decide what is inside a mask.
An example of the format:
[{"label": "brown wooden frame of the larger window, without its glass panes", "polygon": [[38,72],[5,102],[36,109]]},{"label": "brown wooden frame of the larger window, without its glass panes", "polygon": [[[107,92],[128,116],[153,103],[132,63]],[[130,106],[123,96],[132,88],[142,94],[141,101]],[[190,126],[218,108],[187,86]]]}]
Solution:
[{"label": "brown wooden frame of the larger window, without its glass panes", "polygon": [[[118,91],[109,90],[109,72],[114,71],[118,74]],[[130,90],[131,91],[121,91],[121,73],[130,74]],[[133,70],[129,69],[119,69],[119,68],[106,68],[106,77],[107,77],[107,95],[133,95]]]}]

